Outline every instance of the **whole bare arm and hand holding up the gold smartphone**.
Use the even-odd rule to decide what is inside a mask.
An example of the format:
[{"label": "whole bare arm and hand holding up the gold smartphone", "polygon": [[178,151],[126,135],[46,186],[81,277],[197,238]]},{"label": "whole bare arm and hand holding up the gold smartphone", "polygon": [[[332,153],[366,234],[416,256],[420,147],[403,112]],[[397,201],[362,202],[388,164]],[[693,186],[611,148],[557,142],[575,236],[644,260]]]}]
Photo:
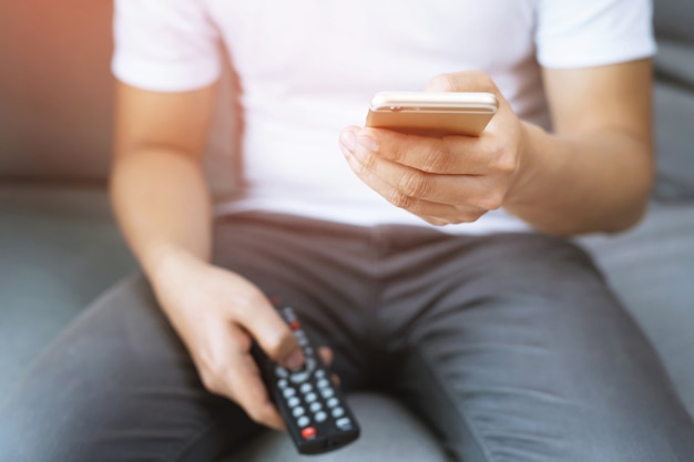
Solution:
[{"label": "whole bare arm and hand holding up the gold smartphone", "polygon": [[347,127],[355,173],[392,204],[436,225],[504,207],[549,234],[636,223],[652,182],[649,61],[545,70],[555,132],[522,122],[480,72],[440,75],[436,91],[488,91],[499,113],[479,138]]}]

